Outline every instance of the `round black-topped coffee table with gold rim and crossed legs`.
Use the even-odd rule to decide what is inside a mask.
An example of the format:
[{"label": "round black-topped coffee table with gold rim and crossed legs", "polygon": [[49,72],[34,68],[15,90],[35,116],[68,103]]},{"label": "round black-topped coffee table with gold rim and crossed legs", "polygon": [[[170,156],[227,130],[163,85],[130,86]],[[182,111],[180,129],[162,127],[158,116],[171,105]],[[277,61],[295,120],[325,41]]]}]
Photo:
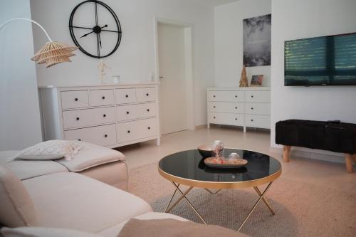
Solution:
[{"label": "round black-topped coffee table with gold rim and crossed legs", "polygon": [[[245,167],[239,169],[212,169],[206,167],[204,158],[201,157],[197,149],[187,150],[170,154],[162,158],[158,164],[159,174],[165,179],[172,182],[174,186],[174,193],[169,200],[164,212],[171,211],[179,201],[184,199],[195,213],[201,218],[203,223],[206,223],[204,218],[199,214],[197,209],[193,206],[191,201],[187,198],[189,191],[195,188],[206,189],[210,194],[216,194],[221,189],[239,189],[253,187],[256,190],[259,199],[254,204],[248,216],[241,223],[239,230],[246,223],[251,216],[256,206],[260,201],[263,201],[271,213],[274,211],[270,204],[264,197],[271,184],[275,179],[281,176],[281,163],[278,159],[258,152],[243,150],[243,149],[225,149],[224,154],[229,155],[231,152],[236,152],[241,158],[248,160]],[[186,191],[179,189],[179,185],[187,185],[189,188]],[[257,186],[268,184],[264,191],[260,191]],[[210,189],[218,189],[211,191]],[[171,205],[172,199],[177,191],[181,194],[179,199]]]}]

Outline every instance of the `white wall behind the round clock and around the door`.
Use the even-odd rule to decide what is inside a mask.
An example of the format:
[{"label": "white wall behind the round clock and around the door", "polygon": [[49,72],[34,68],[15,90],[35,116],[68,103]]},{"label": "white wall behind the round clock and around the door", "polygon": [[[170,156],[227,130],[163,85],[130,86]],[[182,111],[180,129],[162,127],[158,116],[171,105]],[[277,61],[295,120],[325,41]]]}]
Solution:
[{"label": "white wall behind the round clock and around the door", "polygon": [[[33,19],[42,23],[51,38],[73,43],[68,30],[69,16],[82,0],[31,0]],[[151,80],[155,72],[154,17],[194,24],[194,107],[195,125],[206,124],[206,87],[214,85],[214,9],[199,1],[182,0],[105,0],[122,26],[122,41],[117,51],[104,58],[120,80]],[[33,32],[37,30],[34,29]],[[35,49],[46,41],[35,34]],[[73,63],[44,69],[38,67],[39,85],[98,84],[98,59],[76,51]]]}]

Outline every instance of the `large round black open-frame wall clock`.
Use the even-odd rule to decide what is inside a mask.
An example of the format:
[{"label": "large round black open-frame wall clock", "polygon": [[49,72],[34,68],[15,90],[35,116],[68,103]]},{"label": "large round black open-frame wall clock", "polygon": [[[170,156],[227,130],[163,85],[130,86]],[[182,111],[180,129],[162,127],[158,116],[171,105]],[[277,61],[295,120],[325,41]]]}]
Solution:
[{"label": "large round black open-frame wall clock", "polygon": [[121,26],[116,14],[102,1],[88,0],[75,6],[69,18],[75,46],[93,58],[105,58],[120,45]]}]

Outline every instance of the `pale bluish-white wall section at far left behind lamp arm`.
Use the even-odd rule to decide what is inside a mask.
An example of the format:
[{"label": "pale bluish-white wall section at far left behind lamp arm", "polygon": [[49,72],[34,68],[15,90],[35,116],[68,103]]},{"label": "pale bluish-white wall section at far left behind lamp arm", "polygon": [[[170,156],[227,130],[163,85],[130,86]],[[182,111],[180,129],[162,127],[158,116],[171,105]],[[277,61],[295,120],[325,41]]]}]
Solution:
[{"label": "pale bluish-white wall section at far left behind lamp arm", "polygon": [[[14,17],[31,19],[29,0],[0,0],[0,25]],[[6,24],[0,52],[0,150],[23,149],[42,140],[31,23]]]}]

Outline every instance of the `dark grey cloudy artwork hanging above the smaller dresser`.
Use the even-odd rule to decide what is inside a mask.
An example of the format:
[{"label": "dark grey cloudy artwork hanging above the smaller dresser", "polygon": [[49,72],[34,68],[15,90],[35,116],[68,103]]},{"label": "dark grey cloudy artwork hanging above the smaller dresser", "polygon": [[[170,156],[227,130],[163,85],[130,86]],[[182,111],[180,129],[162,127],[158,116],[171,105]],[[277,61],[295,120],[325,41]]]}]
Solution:
[{"label": "dark grey cloudy artwork hanging above the smaller dresser", "polygon": [[271,14],[243,21],[244,65],[271,65]]}]

